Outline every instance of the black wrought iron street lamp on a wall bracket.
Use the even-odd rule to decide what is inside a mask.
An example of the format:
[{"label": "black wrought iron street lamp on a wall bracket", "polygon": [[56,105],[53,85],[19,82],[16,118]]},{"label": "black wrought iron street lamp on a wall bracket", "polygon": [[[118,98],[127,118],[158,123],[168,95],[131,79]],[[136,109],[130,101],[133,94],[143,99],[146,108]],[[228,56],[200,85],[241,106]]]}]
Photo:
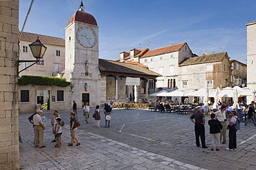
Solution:
[{"label": "black wrought iron street lamp on a wall bracket", "polygon": [[19,64],[18,64],[17,77],[19,77],[20,72],[23,72],[24,70],[28,69],[32,65],[35,65],[36,63],[38,63],[40,61],[40,59],[43,58],[44,53],[46,52],[46,49],[47,49],[47,47],[43,43],[41,43],[38,36],[37,36],[37,40],[35,42],[29,44],[29,47],[30,47],[30,50],[36,60],[19,60],[19,63],[27,62],[27,63],[32,63],[32,64],[28,65],[28,67],[24,68],[21,71],[19,71]]}]

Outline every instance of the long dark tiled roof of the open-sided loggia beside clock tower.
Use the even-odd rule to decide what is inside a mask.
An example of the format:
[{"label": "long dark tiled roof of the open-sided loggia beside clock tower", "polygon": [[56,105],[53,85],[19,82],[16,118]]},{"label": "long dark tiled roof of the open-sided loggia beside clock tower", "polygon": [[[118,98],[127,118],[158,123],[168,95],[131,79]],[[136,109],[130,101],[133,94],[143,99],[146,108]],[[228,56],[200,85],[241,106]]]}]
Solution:
[{"label": "long dark tiled roof of the open-sided loggia beside clock tower", "polygon": [[100,72],[105,74],[126,74],[129,76],[161,76],[156,72],[149,70],[147,67],[140,67],[139,65],[122,63],[118,61],[109,61],[99,59]]}]

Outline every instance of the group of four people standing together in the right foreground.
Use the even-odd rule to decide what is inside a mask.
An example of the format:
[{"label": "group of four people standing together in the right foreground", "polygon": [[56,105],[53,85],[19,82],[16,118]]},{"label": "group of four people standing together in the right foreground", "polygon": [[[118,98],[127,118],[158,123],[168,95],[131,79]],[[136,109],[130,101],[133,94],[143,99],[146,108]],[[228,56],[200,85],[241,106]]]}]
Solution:
[{"label": "group of four people standing together in the right foreground", "polygon": [[[211,136],[211,150],[214,150],[214,145],[217,146],[216,151],[220,149],[220,143],[226,144],[226,131],[228,132],[228,147],[227,150],[237,149],[237,130],[235,129],[235,124],[237,123],[237,111],[232,110],[230,112],[230,121],[228,123],[226,114],[226,105],[221,105],[221,109],[212,113],[210,115],[210,120],[208,125],[210,126],[210,136]],[[196,136],[196,147],[200,147],[199,137],[201,138],[201,145],[203,148],[208,148],[205,145],[205,118],[202,108],[199,107],[197,111],[190,116],[190,120],[194,123],[194,132]]]}]

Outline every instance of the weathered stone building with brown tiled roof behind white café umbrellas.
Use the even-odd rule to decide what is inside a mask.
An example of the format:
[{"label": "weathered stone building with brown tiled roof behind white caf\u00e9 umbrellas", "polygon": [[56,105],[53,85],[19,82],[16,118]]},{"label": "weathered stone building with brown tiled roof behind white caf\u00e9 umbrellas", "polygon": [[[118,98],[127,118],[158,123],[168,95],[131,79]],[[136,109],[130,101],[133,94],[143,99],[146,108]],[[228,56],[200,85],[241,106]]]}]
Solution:
[{"label": "weathered stone building with brown tiled roof behind white caf\u00e9 umbrellas", "polygon": [[227,52],[192,57],[179,65],[181,89],[216,89],[230,86],[230,59]]}]

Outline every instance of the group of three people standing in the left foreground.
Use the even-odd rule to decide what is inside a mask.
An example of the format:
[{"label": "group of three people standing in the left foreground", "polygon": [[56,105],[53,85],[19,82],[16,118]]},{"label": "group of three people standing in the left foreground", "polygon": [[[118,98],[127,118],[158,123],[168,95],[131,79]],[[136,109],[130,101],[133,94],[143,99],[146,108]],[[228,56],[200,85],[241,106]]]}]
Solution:
[{"label": "group of three people standing in the left foreground", "polygon": [[[46,145],[43,144],[44,140],[44,121],[42,120],[41,114],[43,111],[41,109],[36,109],[35,114],[32,114],[29,118],[28,121],[33,124],[34,128],[34,145],[35,147],[39,148],[44,148]],[[70,120],[70,133],[71,133],[71,142],[68,143],[68,146],[73,146],[73,143],[76,141],[77,144],[75,146],[80,145],[80,140],[78,140],[76,136],[77,132],[77,118],[76,114],[74,111],[71,111],[69,114],[71,120]],[[59,111],[55,110],[53,112],[53,118],[51,119],[51,125],[53,127],[53,135],[54,139],[52,142],[57,142],[55,147],[61,147],[62,141],[61,141],[61,136],[62,136],[62,126],[64,125],[64,121],[62,118],[60,118]]]}]

